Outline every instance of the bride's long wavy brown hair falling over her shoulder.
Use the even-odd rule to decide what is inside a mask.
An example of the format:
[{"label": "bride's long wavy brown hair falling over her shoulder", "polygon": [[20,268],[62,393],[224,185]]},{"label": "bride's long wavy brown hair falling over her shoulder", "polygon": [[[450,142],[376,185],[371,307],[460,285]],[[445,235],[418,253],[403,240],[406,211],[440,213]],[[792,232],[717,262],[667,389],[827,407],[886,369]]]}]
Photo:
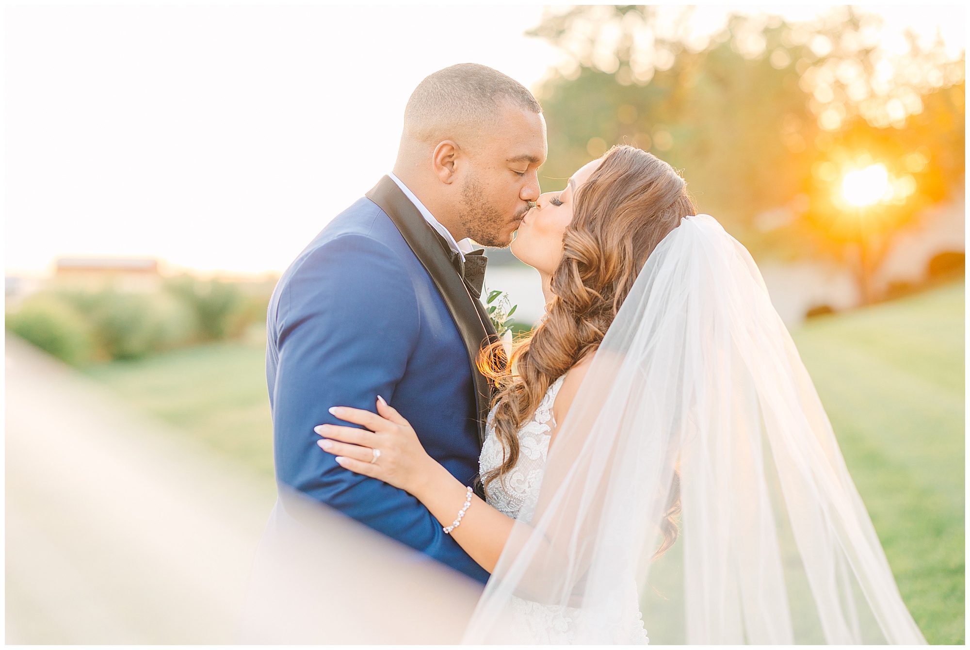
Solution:
[{"label": "bride's long wavy brown hair falling over her shoulder", "polygon": [[[490,361],[504,358],[498,341],[479,357],[482,373],[498,389],[494,426],[504,450],[501,466],[481,477],[486,491],[515,467],[518,431],[549,385],[597,350],[647,257],[681,217],[695,213],[685,180],[660,158],[633,146],[611,148],[576,189],[546,317],[530,336],[516,341],[508,363]],[[675,476],[658,554],[677,538],[679,493]]]}]

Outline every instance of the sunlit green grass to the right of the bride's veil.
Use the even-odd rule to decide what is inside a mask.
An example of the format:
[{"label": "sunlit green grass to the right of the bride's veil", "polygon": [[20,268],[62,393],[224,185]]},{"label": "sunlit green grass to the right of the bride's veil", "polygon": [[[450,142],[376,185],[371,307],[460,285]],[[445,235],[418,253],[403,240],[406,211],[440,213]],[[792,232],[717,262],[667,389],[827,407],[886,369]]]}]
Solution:
[{"label": "sunlit green grass to the right of the bride's veil", "polygon": [[793,333],[913,617],[964,641],[964,285]]}]

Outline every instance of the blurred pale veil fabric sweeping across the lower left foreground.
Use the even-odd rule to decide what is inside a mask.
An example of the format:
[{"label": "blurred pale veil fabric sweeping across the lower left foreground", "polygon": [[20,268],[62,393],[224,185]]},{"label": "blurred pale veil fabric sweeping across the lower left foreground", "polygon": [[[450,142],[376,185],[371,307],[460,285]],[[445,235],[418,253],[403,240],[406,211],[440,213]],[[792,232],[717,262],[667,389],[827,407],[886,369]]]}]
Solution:
[{"label": "blurred pale veil fabric sweeping across the lower left foreground", "polygon": [[257,473],[13,338],[7,379],[7,643],[460,639],[465,576],[299,495],[263,536]]}]

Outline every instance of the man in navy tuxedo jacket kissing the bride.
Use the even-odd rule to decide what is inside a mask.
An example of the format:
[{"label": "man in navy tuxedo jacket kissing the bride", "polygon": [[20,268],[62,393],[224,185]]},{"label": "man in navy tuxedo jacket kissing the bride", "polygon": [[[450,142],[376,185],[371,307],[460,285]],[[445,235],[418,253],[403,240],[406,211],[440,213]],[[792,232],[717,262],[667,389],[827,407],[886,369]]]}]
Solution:
[{"label": "man in navy tuxedo jacket kissing the bride", "polygon": [[473,63],[421,81],[404,110],[394,173],[342,211],[290,265],[267,314],[276,480],[485,582],[403,490],[344,470],[313,427],[330,406],[377,396],[428,453],[471,485],[488,413],[476,368],[495,335],[479,300],[482,250],[506,246],[539,195],[545,122],[517,81]]}]

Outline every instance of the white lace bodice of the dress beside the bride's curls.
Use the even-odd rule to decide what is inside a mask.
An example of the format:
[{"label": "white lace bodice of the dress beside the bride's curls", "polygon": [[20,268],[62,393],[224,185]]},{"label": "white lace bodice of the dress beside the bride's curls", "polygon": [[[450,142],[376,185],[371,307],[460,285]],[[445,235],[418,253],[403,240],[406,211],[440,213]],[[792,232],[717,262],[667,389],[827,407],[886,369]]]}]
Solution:
[{"label": "white lace bodice of the dress beside the bride's curls", "polygon": [[[549,452],[549,434],[556,426],[552,406],[563,379],[560,377],[549,386],[533,417],[519,429],[519,459],[515,467],[488,485],[488,503],[509,517],[518,516],[529,492],[542,480],[542,470]],[[478,458],[478,469],[482,475],[501,467],[504,458],[505,450],[495,435],[494,415],[494,411],[489,413],[485,443]]]}]

